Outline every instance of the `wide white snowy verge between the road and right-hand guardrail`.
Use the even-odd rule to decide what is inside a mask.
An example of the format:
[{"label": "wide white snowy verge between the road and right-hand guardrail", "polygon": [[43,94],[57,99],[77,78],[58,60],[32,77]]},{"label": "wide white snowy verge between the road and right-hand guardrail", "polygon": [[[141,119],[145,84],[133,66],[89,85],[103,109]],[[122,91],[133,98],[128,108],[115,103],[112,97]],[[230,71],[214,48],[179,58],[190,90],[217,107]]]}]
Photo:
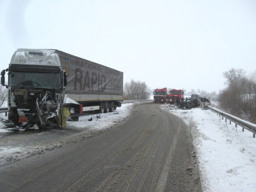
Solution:
[{"label": "wide white snowy verge between the road and right-hand guardrail", "polygon": [[183,119],[197,154],[203,191],[256,191],[256,139],[209,110],[163,109]]}]

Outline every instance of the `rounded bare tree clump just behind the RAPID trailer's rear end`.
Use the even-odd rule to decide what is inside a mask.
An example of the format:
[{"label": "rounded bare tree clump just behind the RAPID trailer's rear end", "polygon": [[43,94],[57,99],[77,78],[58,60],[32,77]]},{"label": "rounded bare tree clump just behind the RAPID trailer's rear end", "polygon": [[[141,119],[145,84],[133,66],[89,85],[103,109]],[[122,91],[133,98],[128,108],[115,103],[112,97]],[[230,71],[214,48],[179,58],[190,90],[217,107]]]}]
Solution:
[{"label": "rounded bare tree clump just behind the RAPID trailer's rear end", "polygon": [[134,81],[126,82],[124,86],[124,99],[148,99],[150,89],[145,82]]}]

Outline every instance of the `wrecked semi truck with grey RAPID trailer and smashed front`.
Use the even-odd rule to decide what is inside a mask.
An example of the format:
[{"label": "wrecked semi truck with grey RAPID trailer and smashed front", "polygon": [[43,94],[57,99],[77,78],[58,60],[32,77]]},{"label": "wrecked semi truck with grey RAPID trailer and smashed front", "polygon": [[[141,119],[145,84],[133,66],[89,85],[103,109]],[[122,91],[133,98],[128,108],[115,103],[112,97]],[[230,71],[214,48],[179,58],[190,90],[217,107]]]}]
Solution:
[{"label": "wrecked semi truck with grey RAPID trailer and smashed front", "polygon": [[20,130],[62,128],[83,111],[114,111],[123,99],[122,72],[57,49],[17,49],[1,84],[8,89],[8,119],[2,122]]}]

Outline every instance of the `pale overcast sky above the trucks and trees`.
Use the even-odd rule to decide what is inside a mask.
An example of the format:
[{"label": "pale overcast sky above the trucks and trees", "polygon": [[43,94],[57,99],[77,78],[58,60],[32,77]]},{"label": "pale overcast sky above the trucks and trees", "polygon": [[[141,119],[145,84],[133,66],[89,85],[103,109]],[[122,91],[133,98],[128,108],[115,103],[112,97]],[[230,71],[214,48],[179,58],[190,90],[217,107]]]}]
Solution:
[{"label": "pale overcast sky above the trucks and trees", "polygon": [[59,49],[124,82],[207,92],[256,70],[256,0],[0,0],[0,70],[17,48]]}]

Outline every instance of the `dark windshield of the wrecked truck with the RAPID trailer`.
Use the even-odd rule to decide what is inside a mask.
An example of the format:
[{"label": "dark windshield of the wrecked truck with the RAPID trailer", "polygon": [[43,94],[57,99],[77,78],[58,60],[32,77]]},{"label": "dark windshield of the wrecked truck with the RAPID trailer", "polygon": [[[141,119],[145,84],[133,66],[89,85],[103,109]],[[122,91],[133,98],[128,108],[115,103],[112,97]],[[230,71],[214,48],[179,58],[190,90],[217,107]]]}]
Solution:
[{"label": "dark windshield of the wrecked truck with the RAPID trailer", "polygon": [[43,89],[60,89],[61,73],[9,72],[8,85]]}]

